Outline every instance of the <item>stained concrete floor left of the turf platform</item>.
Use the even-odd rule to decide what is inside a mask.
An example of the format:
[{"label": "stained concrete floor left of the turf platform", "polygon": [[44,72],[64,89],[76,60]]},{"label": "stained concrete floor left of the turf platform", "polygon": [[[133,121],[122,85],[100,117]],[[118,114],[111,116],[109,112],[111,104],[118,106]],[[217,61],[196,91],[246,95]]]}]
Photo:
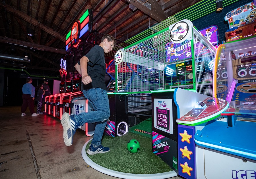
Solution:
[{"label": "stained concrete floor left of the turf platform", "polygon": [[58,118],[31,116],[28,109],[25,113],[21,116],[20,106],[0,107],[0,178],[116,178],[84,162],[81,150],[92,137],[83,130],[77,130],[67,147]]}]

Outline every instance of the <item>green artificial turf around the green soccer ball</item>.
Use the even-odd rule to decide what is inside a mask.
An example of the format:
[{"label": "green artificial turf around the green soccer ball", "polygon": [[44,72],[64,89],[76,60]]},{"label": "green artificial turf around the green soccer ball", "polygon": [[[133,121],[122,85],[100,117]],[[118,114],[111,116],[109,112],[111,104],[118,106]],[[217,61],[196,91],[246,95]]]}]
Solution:
[{"label": "green artificial turf around the green soccer ball", "polygon": [[[137,153],[129,153],[127,143],[136,139],[140,143]],[[90,142],[86,145],[89,148]],[[152,137],[128,132],[122,136],[103,136],[102,145],[110,147],[107,153],[88,155],[96,164],[118,172],[133,174],[154,174],[172,170],[160,157],[152,153]]]}]

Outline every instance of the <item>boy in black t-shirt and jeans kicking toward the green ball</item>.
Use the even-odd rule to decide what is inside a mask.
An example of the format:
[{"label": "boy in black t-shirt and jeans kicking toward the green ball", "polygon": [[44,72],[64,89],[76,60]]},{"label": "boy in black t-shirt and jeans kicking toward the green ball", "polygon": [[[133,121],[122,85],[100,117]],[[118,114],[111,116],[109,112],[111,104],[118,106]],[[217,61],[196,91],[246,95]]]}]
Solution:
[{"label": "boy in black t-shirt and jeans kicking toward the green ball", "polygon": [[85,122],[96,122],[92,142],[86,151],[89,155],[110,151],[109,147],[103,147],[101,145],[103,132],[110,117],[107,88],[104,81],[106,74],[104,53],[112,51],[115,45],[115,38],[107,34],[102,37],[99,45],[92,47],[80,59],[79,63],[75,65],[76,70],[82,76],[82,92],[96,111],[79,113],[78,115],[64,113],[61,117],[63,139],[67,146],[72,145],[73,136],[79,126]]}]

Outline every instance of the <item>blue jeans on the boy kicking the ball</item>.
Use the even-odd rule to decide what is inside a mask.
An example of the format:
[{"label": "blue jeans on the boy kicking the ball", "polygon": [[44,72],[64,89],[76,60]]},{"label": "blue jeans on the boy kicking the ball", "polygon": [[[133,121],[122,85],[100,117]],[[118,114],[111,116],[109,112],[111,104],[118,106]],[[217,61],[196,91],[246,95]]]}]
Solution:
[{"label": "blue jeans on the boy kicking the ball", "polygon": [[98,147],[101,145],[103,132],[108,118],[110,117],[107,91],[101,88],[92,88],[82,90],[82,92],[96,111],[71,115],[71,117],[73,117],[80,126],[86,122],[97,122],[91,144],[93,147]]}]

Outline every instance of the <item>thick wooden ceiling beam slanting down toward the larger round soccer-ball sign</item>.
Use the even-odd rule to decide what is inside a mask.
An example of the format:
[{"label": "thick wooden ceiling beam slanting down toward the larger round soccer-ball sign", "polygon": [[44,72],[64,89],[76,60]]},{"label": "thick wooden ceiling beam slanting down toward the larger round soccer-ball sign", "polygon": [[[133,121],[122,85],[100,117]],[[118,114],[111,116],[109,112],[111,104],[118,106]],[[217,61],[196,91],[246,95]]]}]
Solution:
[{"label": "thick wooden ceiling beam slanting down toward the larger round soccer-ball sign", "polygon": [[143,13],[149,15],[152,19],[156,20],[157,22],[162,22],[166,20],[168,16],[162,10],[160,5],[155,0],[148,0],[147,2],[151,4],[151,10],[148,9],[145,5],[140,2],[140,0],[126,0],[128,3],[137,7]]}]

